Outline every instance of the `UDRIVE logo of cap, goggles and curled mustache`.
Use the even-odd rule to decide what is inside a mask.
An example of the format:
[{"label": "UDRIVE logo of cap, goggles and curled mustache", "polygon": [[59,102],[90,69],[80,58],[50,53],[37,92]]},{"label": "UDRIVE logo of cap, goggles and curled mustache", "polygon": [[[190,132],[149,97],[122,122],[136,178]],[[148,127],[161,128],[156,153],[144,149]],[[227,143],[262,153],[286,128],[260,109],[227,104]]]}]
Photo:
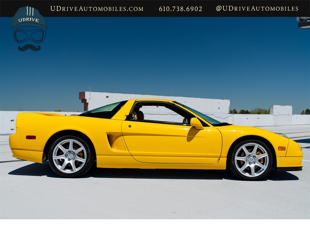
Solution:
[{"label": "UDRIVE logo of cap, goggles and curled mustache", "polygon": [[[45,40],[46,32],[41,28],[47,29],[46,21],[43,16],[40,15],[39,11],[33,7],[24,6],[18,9],[12,19],[12,28],[16,27],[19,27],[13,32],[13,38],[16,43],[22,44],[26,43],[28,40],[31,40],[34,43],[39,44]],[[33,27],[39,27],[40,29],[32,30]],[[18,50],[21,52],[27,51],[28,49],[37,52],[41,49],[41,46],[35,46],[33,44],[18,46]]]}]

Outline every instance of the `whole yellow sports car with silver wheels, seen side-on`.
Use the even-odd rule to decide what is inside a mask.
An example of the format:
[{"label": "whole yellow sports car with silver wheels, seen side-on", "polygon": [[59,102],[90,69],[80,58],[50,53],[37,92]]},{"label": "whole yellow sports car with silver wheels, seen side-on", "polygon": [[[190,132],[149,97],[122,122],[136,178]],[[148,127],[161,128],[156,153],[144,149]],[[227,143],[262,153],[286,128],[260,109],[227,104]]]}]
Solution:
[{"label": "whole yellow sports car with silver wheels, seen side-on", "polygon": [[79,115],[19,113],[13,157],[49,164],[63,177],[100,168],[226,169],[258,180],[271,167],[302,170],[286,135],[219,122],[176,101],[134,99]]}]

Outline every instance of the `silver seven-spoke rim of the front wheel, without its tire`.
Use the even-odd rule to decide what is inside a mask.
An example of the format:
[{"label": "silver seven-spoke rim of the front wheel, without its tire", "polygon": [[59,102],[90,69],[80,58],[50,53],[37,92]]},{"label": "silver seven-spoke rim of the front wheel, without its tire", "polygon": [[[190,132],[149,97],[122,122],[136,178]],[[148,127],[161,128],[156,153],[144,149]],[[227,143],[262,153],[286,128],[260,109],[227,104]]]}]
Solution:
[{"label": "silver seven-spoke rim of the front wheel, without its tire", "polygon": [[265,148],[257,143],[242,145],[236,152],[237,170],[247,177],[256,177],[264,173],[269,164],[269,156]]}]

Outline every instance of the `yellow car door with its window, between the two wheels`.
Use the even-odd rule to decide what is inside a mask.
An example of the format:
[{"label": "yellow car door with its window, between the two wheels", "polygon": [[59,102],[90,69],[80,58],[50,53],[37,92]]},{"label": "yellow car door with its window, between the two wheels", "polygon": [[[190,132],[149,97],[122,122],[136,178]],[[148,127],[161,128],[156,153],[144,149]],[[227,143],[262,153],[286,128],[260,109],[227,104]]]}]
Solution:
[{"label": "yellow car door with its window, between the two wheels", "polygon": [[[155,110],[142,111],[151,119],[127,118],[122,122],[124,141],[135,160],[145,163],[180,164],[216,164],[218,162],[222,149],[222,136],[218,129],[206,125],[203,130],[197,130],[185,123],[186,120],[180,122],[180,118],[190,116],[188,112],[182,113],[183,109],[178,106],[175,107],[179,109],[175,110],[170,105],[171,112],[157,109],[160,106],[166,108],[165,105],[171,103],[160,102],[156,105],[156,102],[142,102],[139,104],[142,105],[139,111],[143,110],[143,106],[153,106]],[[156,112],[156,110],[159,111]],[[134,108],[132,111],[134,112]],[[165,115],[172,116],[165,118]]]}]

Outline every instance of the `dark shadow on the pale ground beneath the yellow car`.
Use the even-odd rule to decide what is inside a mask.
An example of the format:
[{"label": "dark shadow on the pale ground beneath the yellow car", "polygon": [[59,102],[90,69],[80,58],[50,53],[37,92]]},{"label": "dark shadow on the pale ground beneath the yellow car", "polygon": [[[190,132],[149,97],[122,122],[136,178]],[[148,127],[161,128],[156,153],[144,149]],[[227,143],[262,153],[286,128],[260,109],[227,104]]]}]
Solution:
[{"label": "dark shadow on the pale ground beneath the yellow car", "polygon": [[[52,178],[62,178],[55,174],[49,163],[33,163],[15,169],[8,174],[21,176],[47,176]],[[194,169],[116,169],[97,168],[95,165],[85,175],[78,178],[136,178],[136,179],[200,179],[200,180],[240,180],[230,170],[194,170]],[[289,172],[277,172],[271,169],[269,174],[259,180],[299,180],[297,176]]]}]

